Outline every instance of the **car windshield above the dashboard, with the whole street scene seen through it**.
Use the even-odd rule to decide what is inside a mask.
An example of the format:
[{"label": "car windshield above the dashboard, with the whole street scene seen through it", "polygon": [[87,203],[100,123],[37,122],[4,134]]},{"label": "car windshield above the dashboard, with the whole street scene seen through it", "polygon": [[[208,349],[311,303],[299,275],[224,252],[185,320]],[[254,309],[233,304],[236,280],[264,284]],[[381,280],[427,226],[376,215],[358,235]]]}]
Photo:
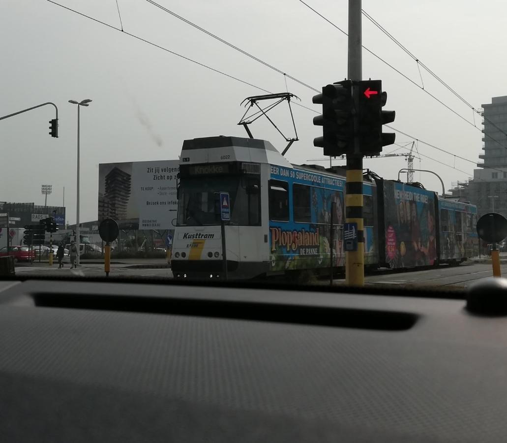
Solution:
[{"label": "car windshield above the dashboard, with the whole street scene seen through it", "polygon": [[507,2],[364,1],[351,46],[328,3],[3,1],[0,254],[268,285],[507,265],[477,229],[507,217]]}]

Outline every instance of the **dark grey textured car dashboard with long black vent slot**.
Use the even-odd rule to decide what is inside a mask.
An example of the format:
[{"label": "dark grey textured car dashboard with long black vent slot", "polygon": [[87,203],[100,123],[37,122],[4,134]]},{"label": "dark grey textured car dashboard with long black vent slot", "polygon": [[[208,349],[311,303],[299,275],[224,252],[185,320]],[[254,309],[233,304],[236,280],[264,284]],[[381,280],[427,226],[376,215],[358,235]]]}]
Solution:
[{"label": "dark grey textured car dashboard with long black vent slot", "polygon": [[507,290],[488,284],[0,281],[0,435],[502,441]]}]

